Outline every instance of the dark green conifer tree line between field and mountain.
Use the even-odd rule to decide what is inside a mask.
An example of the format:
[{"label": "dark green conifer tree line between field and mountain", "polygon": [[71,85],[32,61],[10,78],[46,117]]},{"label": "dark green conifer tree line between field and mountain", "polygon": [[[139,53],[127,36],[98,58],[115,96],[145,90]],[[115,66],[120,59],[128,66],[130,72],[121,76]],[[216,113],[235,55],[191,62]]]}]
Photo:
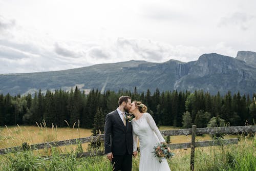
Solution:
[{"label": "dark green conifer tree line between field and mountain", "polygon": [[[106,91],[101,94],[98,90],[91,90],[85,94],[77,87],[75,90],[46,94],[35,93],[24,96],[0,94],[0,125],[26,124],[35,125],[45,121],[47,126],[67,125],[93,129],[93,134],[103,132],[105,115],[115,110],[121,95],[131,96],[132,100],[140,100],[148,107],[158,125],[179,127],[225,126],[254,124],[256,109],[254,101],[249,95],[228,92],[224,96],[220,93],[210,95],[202,90],[193,93],[189,91],[160,92],[118,92]],[[253,97],[256,95],[253,94]],[[78,122],[79,120],[79,122]],[[79,124],[79,125],[78,125]]]}]

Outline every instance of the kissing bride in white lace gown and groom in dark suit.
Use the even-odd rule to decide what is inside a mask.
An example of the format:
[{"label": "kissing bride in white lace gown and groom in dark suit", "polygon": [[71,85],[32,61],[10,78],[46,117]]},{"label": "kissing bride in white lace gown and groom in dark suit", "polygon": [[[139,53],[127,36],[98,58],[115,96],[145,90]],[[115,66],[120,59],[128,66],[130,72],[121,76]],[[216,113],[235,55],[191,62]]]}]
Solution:
[{"label": "kissing bride in white lace gown and groom in dark suit", "polygon": [[[170,170],[167,161],[159,162],[153,155],[153,147],[164,143],[158,127],[148,113],[146,105],[140,101],[131,101],[129,96],[121,96],[118,108],[107,114],[104,126],[104,146],[106,157],[113,169],[132,170],[132,156],[138,155],[137,144],[140,142],[140,171]],[[135,118],[128,119],[129,113]]]}]

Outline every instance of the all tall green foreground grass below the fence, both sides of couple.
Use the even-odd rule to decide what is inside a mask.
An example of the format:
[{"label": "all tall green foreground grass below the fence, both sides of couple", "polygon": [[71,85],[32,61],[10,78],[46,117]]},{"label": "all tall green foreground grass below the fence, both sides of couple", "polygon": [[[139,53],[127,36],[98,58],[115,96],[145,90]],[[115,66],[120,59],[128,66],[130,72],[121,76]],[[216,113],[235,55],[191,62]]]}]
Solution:
[{"label": "all tall green foreground grass below the fence, both sides of couple", "polygon": [[[255,137],[240,139],[235,145],[196,148],[195,170],[256,170]],[[105,156],[76,158],[76,151],[51,151],[51,156],[33,151],[2,155],[0,170],[112,170]],[[189,170],[190,149],[178,149],[175,154],[168,160],[170,168]],[[133,158],[133,170],[139,170],[139,156]]]}]

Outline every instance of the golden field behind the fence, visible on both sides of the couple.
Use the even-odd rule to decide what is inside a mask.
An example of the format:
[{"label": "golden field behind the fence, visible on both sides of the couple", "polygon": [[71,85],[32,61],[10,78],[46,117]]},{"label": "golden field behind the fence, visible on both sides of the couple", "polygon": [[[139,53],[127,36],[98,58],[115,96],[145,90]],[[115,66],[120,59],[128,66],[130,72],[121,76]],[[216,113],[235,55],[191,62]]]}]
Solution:
[{"label": "golden field behind the fence, visible on both sides of the couple", "polygon": [[[177,130],[179,127],[160,126],[159,130]],[[91,136],[90,129],[73,129],[69,127],[44,127],[44,126],[8,126],[0,127],[0,148],[18,146],[23,142],[36,144],[49,141],[83,138]],[[236,136],[229,136],[236,137]],[[209,135],[197,136],[197,141],[210,140]],[[190,142],[191,136],[171,136],[172,143]]]}]

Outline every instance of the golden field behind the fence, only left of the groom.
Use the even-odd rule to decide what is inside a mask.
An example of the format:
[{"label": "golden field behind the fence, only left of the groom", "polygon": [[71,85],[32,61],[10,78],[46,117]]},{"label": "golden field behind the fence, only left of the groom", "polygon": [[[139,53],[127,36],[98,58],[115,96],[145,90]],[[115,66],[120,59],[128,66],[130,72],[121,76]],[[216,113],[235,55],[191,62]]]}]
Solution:
[{"label": "golden field behind the fence, only left of the groom", "polygon": [[[60,141],[76,139],[79,137],[89,137],[92,135],[90,129],[76,129],[73,127],[46,127],[44,124],[39,126],[6,126],[0,127],[0,148],[20,146],[27,142],[29,145],[42,142]],[[88,143],[82,144],[86,149]],[[73,146],[75,149],[76,146]],[[62,148],[62,147],[60,147]]]}]

